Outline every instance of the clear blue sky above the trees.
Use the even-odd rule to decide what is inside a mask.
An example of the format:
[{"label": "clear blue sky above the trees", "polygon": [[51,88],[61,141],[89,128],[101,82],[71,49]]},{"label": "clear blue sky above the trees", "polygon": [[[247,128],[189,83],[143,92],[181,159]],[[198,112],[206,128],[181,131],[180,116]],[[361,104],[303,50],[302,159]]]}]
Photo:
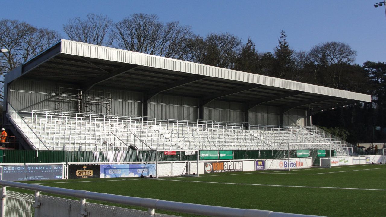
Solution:
[{"label": "clear blue sky above the trees", "polygon": [[358,52],[357,64],[385,62],[386,19],[380,0],[0,0],[1,19],[17,19],[57,30],[88,13],[104,14],[118,22],[130,14],[156,14],[163,22],[191,25],[193,32],[230,32],[245,43],[248,37],[259,52],[273,51],[283,29],[289,45],[308,51],[316,44],[338,41]]}]

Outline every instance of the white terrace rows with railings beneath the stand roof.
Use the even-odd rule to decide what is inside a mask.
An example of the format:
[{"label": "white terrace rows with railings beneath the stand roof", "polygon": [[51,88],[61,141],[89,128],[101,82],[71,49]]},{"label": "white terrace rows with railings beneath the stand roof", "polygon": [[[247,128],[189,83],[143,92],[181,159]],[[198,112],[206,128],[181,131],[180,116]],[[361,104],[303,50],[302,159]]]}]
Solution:
[{"label": "white terrace rows with railings beneath the stand roof", "polygon": [[54,150],[97,151],[112,150],[114,147],[127,149],[129,144],[140,150],[269,150],[277,148],[283,142],[331,141],[332,148],[338,153],[347,153],[339,145],[340,142],[326,138],[325,134],[315,127],[251,127],[245,123],[177,119],[169,119],[168,125],[162,125],[156,119],[151,120],[149,122],[145,117],[33,110],[31,127],[36,129],[42,141]]}]

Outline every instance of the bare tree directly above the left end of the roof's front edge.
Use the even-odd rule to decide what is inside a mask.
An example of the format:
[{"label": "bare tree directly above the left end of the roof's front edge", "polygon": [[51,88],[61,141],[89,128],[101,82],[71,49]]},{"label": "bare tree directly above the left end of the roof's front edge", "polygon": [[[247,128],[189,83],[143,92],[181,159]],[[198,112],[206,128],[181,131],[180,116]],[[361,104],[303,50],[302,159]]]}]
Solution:
[{"label": "bare tree directly above the left end of the roof's front edge", "polygon": [[112,23],[107,15],[87,14],[85,20],[80,17],[69,19],[63,25],[63,31],[72,41],[110,47],[113,42],[110,36]]}]

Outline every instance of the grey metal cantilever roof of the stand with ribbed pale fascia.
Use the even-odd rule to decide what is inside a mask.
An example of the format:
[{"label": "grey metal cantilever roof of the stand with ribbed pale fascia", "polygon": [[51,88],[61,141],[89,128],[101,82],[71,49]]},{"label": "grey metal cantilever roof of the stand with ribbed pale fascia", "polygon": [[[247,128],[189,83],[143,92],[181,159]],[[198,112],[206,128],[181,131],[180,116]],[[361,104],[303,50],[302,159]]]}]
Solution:
[{"label": "grey metal cantilever roof of the stand with ribbed pale fascia", "polygon": [[371,96],[177,59],[62,39],[6,75],[93,87],[311,110],[371,102]]}]

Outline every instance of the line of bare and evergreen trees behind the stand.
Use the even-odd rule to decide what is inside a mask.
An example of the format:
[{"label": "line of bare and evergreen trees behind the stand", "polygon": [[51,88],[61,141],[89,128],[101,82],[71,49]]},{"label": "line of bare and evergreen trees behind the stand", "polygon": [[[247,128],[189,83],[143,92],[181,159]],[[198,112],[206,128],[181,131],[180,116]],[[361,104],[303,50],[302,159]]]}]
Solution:
[{"label": "line of bare and evergreen trees behind the stand", "polygon": [[[85,19],[69,19],[63,24],[63,32],[64,37],[18,20],[0,20],[0,43],[9,50],[0,55],[1,75],[66,38],[369,94],[372,103],[321,112],[313,116],[313,123],[334,132],[347,130],[350,142],[383,139],[386,64],[355,64],[357,52],[344,42],[322,42],[309,51],[295,51],[281,31],[272,52],[259,52],[250,38],[243,44],[242,39],[228,32],[200,36],[190,26],[161,22],[157,15],[147,14],[132,14],[116,23],[106,15],[88,14]],[[3,92],[0,97],[2,100]]]}]

